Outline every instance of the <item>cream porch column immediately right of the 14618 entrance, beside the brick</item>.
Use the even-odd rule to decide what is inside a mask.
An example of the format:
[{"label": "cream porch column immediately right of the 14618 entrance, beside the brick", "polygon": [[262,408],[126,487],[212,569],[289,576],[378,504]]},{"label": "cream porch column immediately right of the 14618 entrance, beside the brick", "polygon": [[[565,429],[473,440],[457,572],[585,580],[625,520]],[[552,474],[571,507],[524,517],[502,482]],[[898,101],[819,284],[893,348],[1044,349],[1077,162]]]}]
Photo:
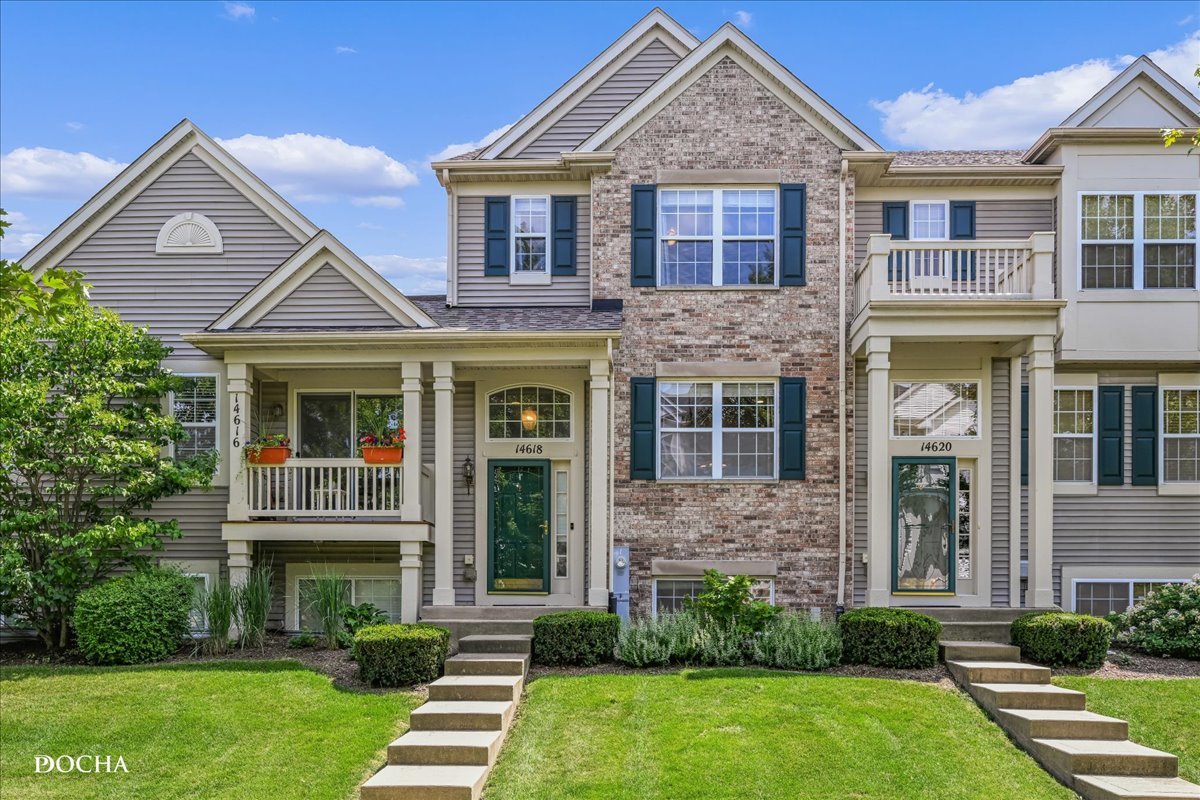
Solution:
[{"label": "cream porch column immediately right of the 14618 entrance, beside the brick", "polygon": [[608,402],[611,365],[605,359],[592,361],[588,393],[592,409],[588,426],[588,606],[608,607]]}]

